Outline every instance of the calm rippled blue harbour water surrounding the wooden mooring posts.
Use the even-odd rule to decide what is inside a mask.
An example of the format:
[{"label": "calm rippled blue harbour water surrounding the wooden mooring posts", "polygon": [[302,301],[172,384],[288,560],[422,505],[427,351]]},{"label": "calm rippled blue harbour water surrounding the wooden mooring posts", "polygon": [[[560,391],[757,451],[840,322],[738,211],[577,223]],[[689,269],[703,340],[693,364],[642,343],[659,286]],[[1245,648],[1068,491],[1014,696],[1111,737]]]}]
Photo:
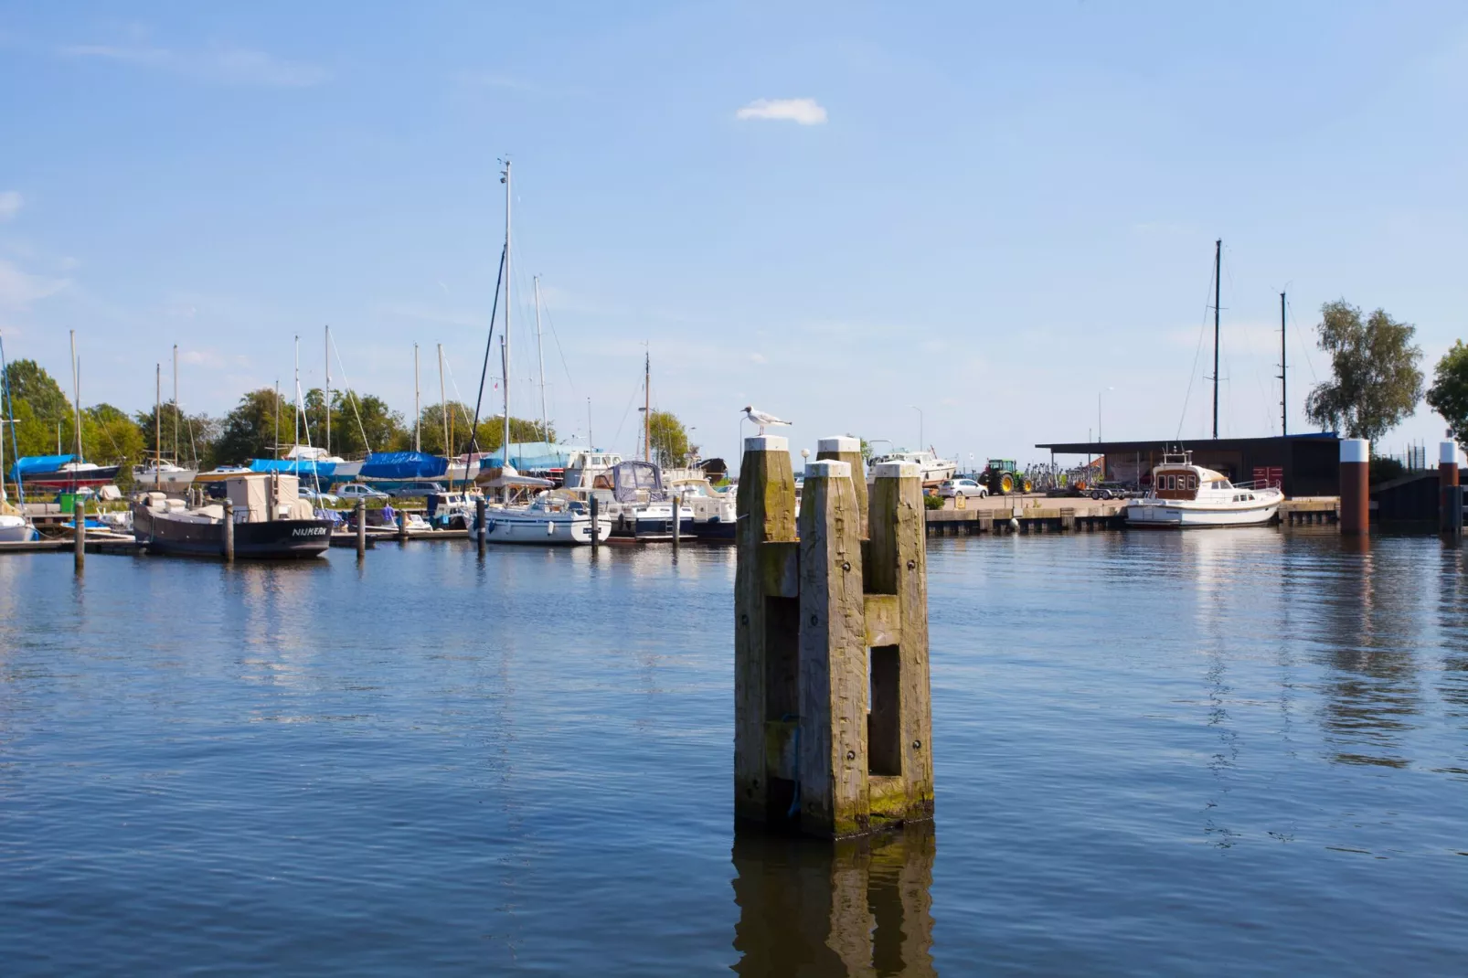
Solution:
[{"label": "calm rippled blue harbour water surrounding the wooden mooring posts", "polygon": [[731,830],[731,551],[0,561],[0,971],[1468,960],[1436,539],[934,540],[937,822]]}]

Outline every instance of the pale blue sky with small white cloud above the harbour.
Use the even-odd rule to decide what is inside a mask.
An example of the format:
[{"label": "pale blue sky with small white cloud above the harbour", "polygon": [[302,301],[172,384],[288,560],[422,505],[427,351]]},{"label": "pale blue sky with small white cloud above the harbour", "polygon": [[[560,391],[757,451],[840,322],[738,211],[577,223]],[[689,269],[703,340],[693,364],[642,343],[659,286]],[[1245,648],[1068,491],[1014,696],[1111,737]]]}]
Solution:
[{"label": "pale blue sky with small white cloud above the harbour", "polygon": [[1428,372],[1464,332],[1462,4],[418,6],[0,4],[7,354],[66,374],[75,329],[82,399],[139,408],[176,342],[219,414],[297,333],[320,385],[330,323],[399,410],[414,342],[424,402],[436,344],[473,396],[506,153],[511,410],[540,275],[550,414],[622,451],[644,349],[706,454],[747,402],[963,460],[1098,394],[1108,438],[1204,436],[1218,236],[1226,435],[1279,430],[1284,288],[1292,430],[1323,301]]}]

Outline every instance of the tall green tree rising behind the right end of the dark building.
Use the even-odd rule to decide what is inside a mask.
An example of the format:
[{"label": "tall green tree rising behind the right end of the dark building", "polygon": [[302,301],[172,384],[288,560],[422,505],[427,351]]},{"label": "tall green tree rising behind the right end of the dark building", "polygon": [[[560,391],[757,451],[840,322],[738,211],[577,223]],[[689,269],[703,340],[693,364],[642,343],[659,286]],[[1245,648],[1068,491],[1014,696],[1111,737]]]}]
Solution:
[{"label": "tall green tree rising behind the right end of the dark building", "polygon": [[1422,399],[1417,327],[1381,308],[1362,323],[1361,310],[1345,300],[1326,303],[1320,314],[1318,345],[1330,354],[1334,377],[1309,392],[1305,414],[1321,427],[1374,442]]}]

